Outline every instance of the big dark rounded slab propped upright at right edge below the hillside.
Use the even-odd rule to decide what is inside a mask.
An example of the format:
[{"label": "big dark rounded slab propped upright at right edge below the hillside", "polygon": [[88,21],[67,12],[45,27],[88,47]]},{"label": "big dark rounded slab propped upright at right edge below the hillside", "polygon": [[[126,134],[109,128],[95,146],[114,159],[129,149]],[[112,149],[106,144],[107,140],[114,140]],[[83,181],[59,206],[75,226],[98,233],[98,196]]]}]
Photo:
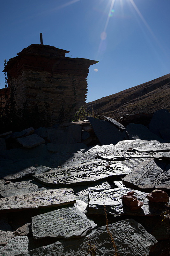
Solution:
[{"label": "big dark rounded slab propped upright at right edge below the hillside", "polygon": [[159,109],[152,116],[149,130],[160,136],[159,131],[164,129],[170,129],[170,113],[167,109]]}]

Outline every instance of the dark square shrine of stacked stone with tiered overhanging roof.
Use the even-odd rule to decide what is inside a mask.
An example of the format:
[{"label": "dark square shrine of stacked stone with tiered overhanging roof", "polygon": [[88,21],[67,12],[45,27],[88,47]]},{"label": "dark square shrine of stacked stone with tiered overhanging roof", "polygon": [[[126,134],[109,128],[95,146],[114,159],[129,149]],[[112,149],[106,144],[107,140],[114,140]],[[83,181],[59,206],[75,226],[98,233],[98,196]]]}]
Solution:
[{"label": "dark square shrine of stacked stone with tiered overhanging roof", "polygon": [[52,123],[61,111],[70,119],[85,105],[89,66],[95,60],[65,57],[68,51],[43,44],[31,44],[10,59],[4,69],[8,84],[15,85],[17,108],[27,100],[30,112],[38,106],[40,113],[49,104]]}]

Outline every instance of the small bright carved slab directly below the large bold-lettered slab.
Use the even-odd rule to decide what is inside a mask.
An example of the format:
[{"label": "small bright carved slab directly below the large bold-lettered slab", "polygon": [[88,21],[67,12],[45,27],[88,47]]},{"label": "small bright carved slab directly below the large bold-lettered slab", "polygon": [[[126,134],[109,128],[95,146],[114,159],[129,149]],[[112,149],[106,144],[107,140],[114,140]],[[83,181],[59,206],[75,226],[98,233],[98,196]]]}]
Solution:
[{"label": "small bright carved slab directly below the large bold-lettered slab", "polygon": [[110,188],[111,188],[111,186],[108,184],[108,182],[102,180],[102,181],[95,182],[95,183],[92,183],[92,184],[86,185],[86,186],[76,186],[73,189],[74,189],[74,193],[77,196],[86,196],[89,194],[89,189],[102,191],[102,190],[110,189]]}]

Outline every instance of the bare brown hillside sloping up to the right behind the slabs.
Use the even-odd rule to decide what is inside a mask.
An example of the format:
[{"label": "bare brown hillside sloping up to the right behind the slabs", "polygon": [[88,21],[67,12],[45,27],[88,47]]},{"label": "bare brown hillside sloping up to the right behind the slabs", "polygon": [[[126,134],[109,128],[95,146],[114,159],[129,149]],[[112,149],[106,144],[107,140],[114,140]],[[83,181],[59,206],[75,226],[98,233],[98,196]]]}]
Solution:
[{"label": "bare brown hillside sloping up to the right behind the slabs", "polygon": [[153,113],[160,108],[170,110],[170,74],[94,100],[87,107],[93,108],[95,113],[105,113],[115,118],[121,117],[123,113]]}]

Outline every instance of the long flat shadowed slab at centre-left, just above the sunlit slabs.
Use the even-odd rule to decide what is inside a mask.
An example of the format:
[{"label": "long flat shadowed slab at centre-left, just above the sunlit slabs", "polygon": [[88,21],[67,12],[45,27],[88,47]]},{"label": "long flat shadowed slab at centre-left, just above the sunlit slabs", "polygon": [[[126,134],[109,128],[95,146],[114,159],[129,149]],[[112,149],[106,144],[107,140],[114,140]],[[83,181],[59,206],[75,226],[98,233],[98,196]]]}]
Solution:
[{"label": "long flat shadowed slab at centre-left, just above the sunlit slabs", "polygon": [[[73,125],[71,127],[76,127],[76,126]],[[75,144],[48,143],[47,148],[49,151],[52,151],[52,152],[71,152],[71,153],[76,153],[80,149],[88,149],[88,147],[84,143],[75,143]]]}]

